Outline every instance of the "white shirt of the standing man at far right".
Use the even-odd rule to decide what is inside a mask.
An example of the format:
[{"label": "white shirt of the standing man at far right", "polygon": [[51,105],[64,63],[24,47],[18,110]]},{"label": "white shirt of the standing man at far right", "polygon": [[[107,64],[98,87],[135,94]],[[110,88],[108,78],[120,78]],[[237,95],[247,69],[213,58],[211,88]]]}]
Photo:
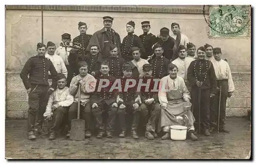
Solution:
[{"label": "white shirt of the standing man at far right", "polygon": [[211,63],[214,65],[217,80],[228,79],[228,92],[234,92],[234,83],[228,63],[222,59],[212,60]]}]

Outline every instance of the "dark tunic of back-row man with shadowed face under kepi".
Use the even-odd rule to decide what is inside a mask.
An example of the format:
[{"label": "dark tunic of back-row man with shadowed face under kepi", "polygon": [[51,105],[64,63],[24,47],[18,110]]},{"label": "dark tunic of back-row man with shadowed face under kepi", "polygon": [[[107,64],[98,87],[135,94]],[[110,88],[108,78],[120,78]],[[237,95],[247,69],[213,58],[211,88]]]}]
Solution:
[{"label": "dark tunic of back-row man with shadowed face under kepi", "polygon": [[[174,53],[175,40],[169,37],[165,42],[161,38],[158,38],[158,44],[163,46],[163,56],[168,60],[175,60],[178,58],[177,54]],[[156,43],[156,44],[157,44]]]}]

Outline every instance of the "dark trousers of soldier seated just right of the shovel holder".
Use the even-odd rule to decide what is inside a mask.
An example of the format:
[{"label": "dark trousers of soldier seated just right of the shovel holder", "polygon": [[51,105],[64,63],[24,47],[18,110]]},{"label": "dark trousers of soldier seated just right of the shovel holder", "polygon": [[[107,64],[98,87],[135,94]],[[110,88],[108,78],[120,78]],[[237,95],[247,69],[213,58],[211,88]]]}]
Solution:
[{"label": "dark trousers of soldier seated just right of the shovel holder", "polygon": [[115,125],[115,118],[117,113],[117,107],[112,107],[108,105],[105,101],[101,101],[97,104],[98,107],[92,108],[93,117],[95,119],[95,126],[98,129],[98,132],[104,132],[105,126],[103,124],[102,114],[108,113],[108,119],[106,119],[106,131],[113,132]]}]

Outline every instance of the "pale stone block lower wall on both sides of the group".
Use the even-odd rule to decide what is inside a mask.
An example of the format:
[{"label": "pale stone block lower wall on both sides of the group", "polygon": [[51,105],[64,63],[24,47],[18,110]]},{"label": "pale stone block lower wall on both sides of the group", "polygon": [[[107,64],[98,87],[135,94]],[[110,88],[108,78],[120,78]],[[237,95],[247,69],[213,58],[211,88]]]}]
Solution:
[{"label": "pale stone block lower wall on both sides of the group", "polygon": [[[6,87],[6,117],[27,118],[28,95],[19,72],[7,72]],[[227,117],[247,116],[247,110],[251,109],[251,74],[232,73],[234,91],[231,98],[227,99]]]}]

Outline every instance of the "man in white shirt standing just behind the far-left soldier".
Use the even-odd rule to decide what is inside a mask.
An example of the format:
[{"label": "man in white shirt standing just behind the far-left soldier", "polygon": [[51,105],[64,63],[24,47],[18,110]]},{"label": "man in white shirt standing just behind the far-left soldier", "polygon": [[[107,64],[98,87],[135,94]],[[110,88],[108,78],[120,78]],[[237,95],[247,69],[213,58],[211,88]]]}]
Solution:
[{"label": "man in white shirt standing just behind the far-left soldier", "polygon": [[[66,77],[68,77],[68,71],[65,66],[65,63],[63,62],[63,60],[60,56],[55,54],[55,50],[56,50],[55,44],[53,42],[49,41],[49,42],[47,42],[46,48],[47,48],[47,53],[46,53],[45,57],[48,58],[52,62],[57,73],[58,74],[62,73]],[[49,86],[51,87],[52,76],[51,76],[50,72],[49,72],[49,76],[48,76],[48,83],[49,83]]]}]

